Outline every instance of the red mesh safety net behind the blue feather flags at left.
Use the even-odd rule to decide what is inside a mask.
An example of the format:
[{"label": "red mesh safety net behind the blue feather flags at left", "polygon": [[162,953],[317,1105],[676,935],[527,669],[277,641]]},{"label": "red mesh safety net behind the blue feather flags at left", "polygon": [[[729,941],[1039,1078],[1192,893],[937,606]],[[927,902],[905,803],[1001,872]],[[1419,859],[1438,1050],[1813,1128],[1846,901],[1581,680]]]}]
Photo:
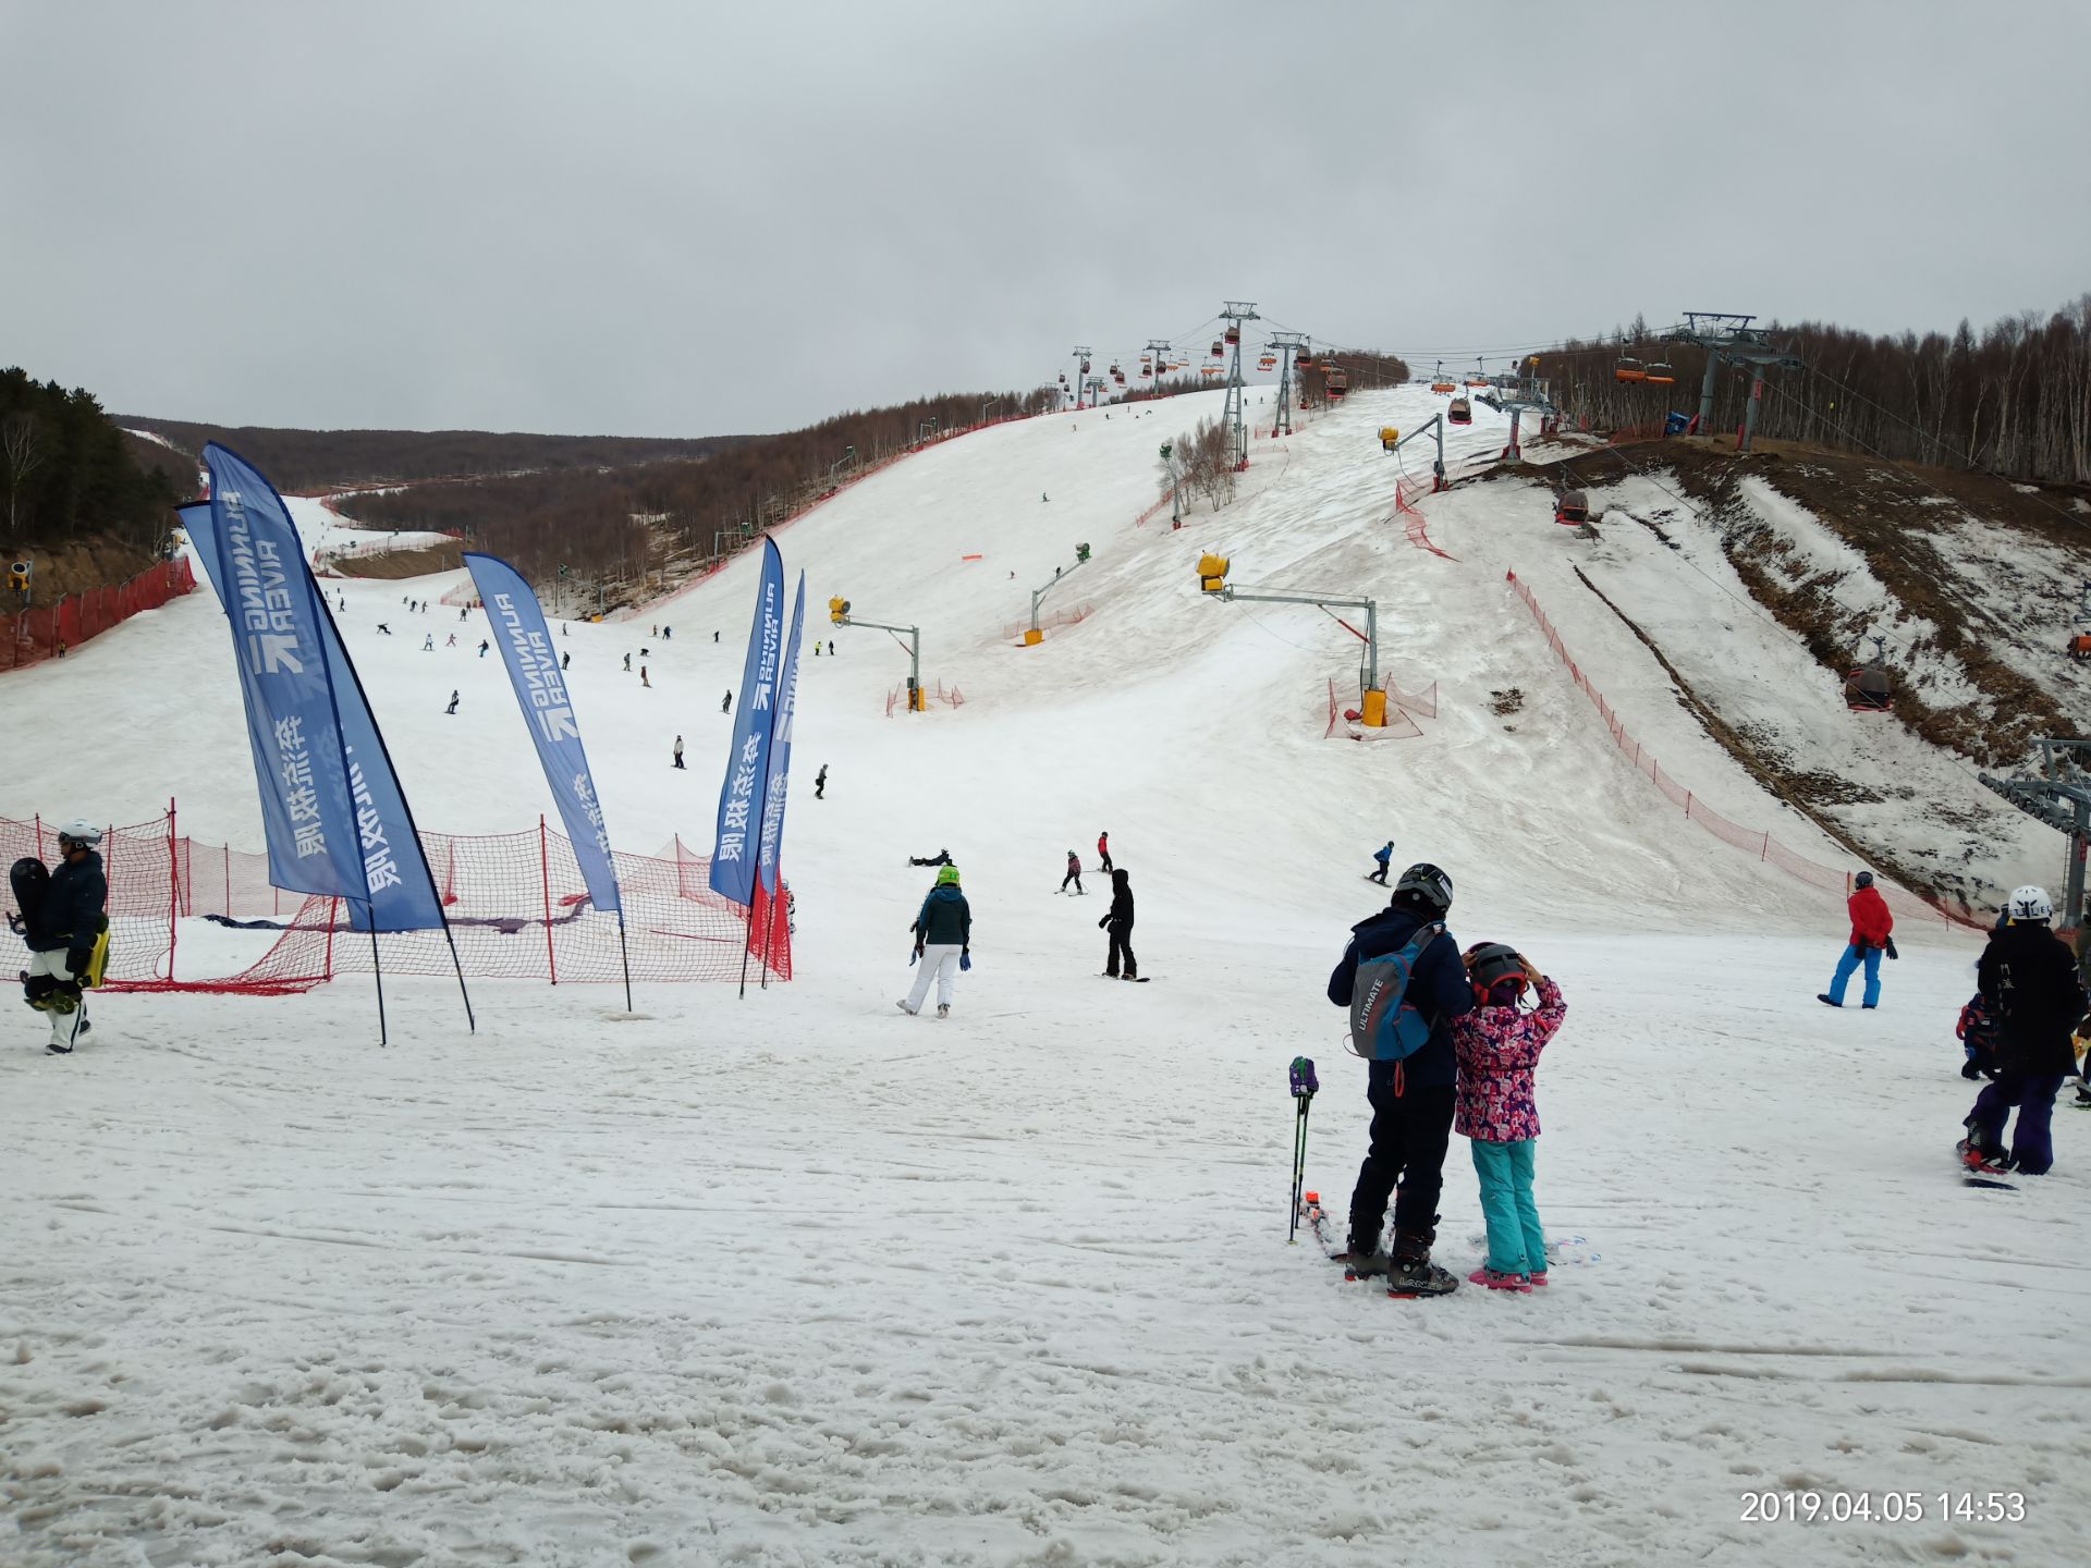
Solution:
[{"label": "red mesh safety net behind the blue feather flags at left", "polygon": [[[573,845],[550,830],[473,836],[424,832],[422,851],[443,897],[458,964],[468,976],[516,981],[621,981],[617,916],[588,899]],[[268,882],[268,857],[224,845],[199,845],[176,832],[169,809],[157,822],[109,828],[102,836],[109,878],[109,989],[113,991],[303,991],[335,974],[372,968],[370,935],[349,928],[339,899],[280,893]],[[52,826],[0,817],[0,853],[56,855]],[[788,981],[790,886],[784,899],[757,893],[746,905],[709,886],[711,859],[673,840],[661,855],[615,855],[625,905],[625,947],[634,981],[736,981],[742,953],[749,978],[763,968]],[[286,920],[276,945],[253,966],[226,976],[180,978],[180,920]],[[387,932],[378,958],[391,974],[450,974],[441,930]]]}]

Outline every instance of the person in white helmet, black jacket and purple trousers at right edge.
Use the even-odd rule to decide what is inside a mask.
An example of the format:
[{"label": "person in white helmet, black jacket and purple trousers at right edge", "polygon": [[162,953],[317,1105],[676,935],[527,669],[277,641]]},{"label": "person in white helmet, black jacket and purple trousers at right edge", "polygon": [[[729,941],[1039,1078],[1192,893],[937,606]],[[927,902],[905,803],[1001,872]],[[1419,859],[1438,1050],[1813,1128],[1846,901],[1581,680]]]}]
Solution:
[{"label": "person in white helmet, black jacket and purple trousers at right edge", "polygon": [[[2047,1121],[2062,1079],[2076,1064],[2070,1029],[2085,1016],[2087,997],[2076,960],[2047,926],[2055,916],[2047,889],[2014,889],[2005,912],[2009,924],[1991,935],[1974,966],[1982,1001],[1997,1018],[1997,1077],[1968,1112],[1959,1154],[1970,1171],[2047,1175],[2055,1162]],[[2005,1154],[2003,1123],[2012,1106],[2018,1127]]]}]

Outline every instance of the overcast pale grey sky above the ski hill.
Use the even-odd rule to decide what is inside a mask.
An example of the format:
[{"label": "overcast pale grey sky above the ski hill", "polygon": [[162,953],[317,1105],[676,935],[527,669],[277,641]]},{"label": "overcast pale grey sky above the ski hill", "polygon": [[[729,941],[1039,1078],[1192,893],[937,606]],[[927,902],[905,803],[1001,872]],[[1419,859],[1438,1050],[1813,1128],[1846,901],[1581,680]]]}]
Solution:
[{"label": "overcast pale grey sky above the ski hill", "polygon": [[2091,289],[2087,0],[0,0],[0,364],[713,435],[1223,297],[1422,360]]}]

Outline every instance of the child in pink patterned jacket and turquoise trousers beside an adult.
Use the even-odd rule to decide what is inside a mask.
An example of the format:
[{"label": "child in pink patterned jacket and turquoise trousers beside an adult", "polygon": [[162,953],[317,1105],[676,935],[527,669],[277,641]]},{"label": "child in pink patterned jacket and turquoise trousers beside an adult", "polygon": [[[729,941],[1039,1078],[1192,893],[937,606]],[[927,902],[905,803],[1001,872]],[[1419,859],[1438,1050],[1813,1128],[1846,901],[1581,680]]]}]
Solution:
[{"label": "child in pink patterned jacket and turquoise trousers beside an adult", "polygon": [[[1539,1139],[1533,1068],[1568,1004],[1514,947],[1478,943],[1464,958],[1474,1012],[1451,1027],[1460,1056],[1453,1127],[1472,1139],[1480,1213],[1489,1221],[1489,1261],[1468,1277],[1489,1290],[1531,1290],[1547,1282],[1547,1238],[1533,1202],[1533,1144]],[[1518,1008],[1526,985],[1537,991],[1533,1012]]]}]

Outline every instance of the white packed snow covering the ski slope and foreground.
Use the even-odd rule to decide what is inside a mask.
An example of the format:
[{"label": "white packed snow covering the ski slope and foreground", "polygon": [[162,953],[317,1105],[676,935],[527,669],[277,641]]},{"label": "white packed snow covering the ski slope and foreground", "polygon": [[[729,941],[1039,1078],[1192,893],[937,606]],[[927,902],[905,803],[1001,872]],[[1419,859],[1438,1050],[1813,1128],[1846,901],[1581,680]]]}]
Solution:
[{"label": "white packed snow covering the ski slope and foreground", "polygon": [[[905,656],[818,623],[790,985],[642,987],[623,1016],[481,983],[466,1035],[454,985],[404,981],[383,1054],[362,981],[109,997],[67,1062],[19,1020],[0,1562],[2074,1562],[2091,1116],[2058,1112],[2053,1175],[1959,1185],[1974,943],[1905,928],[1880,1012],[1817,1006],[1840,903],[1669,807],[1503,587],[1499,556],[1543,581],[1566,544],[1533,493],[1426,502],[1460,560],[1386,523],[1374,431],[1432,401],[1261,443],[1184,531],[1131,518],[1217,393],[964,437],[786,527],[811,606],[920,621],[924,675],[966,694],[889,719]],[[1010,646],[1077,541],[1096,560],[1046,608],[1094,613]],[[1357,644],[1202,600],[1209,548],[1244,585],[1374,594],[1386,673],[1439,682],[1424,736],[1324,740]],[[397,604],[447,581],[345,583],[343,627],[420,820],[516,828],[548,805],[485,621]],[[1631,633],[1541,596],[1677,778],[1836,859]],[[619,845],[709,843],[751,602],[740,562],[661,610],[673,640],[565,638]],[[640,646],[650,690],[621,669]],[[171,792],[186,830],[253,845],[226,656],[199,594],[8,677],[100,721],[0,757],[0,809],[136,820]],[[1052,891],[1104,828],[1150,987],[1094,978],[1100,878]],[[1286,1246],[1292,1056],[1326,1085],[1307,1185],[1340,1210],[1363,1152],[1322,987],[1388,836],[1451,872],[1462,941],[1518,943],[1568,995],[1543,1296],[1391,1302]],[[974,907],[947,1022],[893,1008],[926,884],[903,861],[939,847]],[[1441,1261],[1472,1269],[1478,1231],[1455,1139]],[[1746,1491],[1796,1486],[1917,1491],[1930,1518],[1742,1522]],[[1940,1491],[2022,1491],[2026,1518],[1938,1520]]]}]

